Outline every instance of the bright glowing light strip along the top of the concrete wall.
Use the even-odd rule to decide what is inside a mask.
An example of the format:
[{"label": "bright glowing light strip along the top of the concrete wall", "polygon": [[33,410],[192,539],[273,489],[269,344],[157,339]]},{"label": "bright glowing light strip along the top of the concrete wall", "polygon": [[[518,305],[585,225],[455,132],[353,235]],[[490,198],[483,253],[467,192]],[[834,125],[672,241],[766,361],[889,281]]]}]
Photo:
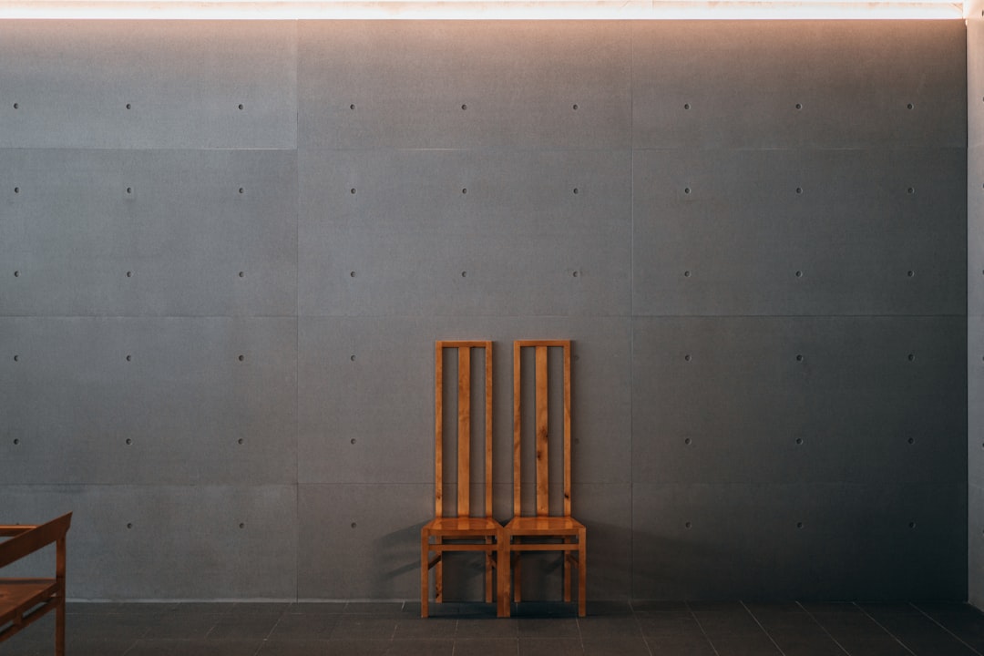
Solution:
[{"label": "bright glowing light strip along the top of the concrete wall", "polygon": [[946,0],[0,0],[0,19],[962,19]]}]

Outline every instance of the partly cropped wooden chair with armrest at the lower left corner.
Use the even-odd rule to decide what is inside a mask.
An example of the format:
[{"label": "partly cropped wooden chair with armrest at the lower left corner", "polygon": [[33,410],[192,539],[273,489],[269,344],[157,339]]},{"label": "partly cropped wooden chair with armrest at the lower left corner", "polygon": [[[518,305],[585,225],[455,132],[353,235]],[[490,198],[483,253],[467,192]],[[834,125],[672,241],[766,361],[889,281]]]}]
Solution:
[{"label": "partly cropped wooden chair with armrest at the lower left corner", "polygon": [[54,578],[0,578],[0,642],[55,611],[55,655],[65,654],[65,534],[72,513],[37,526],[0,526],[0,567],[55,543]]}]

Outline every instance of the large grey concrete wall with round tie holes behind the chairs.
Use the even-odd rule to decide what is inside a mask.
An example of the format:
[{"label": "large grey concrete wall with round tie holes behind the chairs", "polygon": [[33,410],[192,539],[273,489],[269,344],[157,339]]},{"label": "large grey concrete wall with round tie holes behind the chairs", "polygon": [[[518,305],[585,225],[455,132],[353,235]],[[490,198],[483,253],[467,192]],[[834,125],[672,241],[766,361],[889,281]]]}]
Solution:
[{"label": "large grey concrete wall with round tie holes behind the chairs", "polygon": [[964,599],[965,48],[0,23],[4,520],[75,510],[72,597],[413,598],[433,341],[496,340],[507,518],[570,337],[591,598]]}]

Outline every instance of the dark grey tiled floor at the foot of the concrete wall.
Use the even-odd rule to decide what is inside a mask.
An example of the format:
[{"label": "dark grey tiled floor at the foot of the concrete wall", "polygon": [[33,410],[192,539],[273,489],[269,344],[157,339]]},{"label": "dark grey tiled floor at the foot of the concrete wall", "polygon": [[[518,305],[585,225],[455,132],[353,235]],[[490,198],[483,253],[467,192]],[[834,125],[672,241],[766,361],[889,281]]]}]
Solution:
[{"label": "dark grey tiled floor at the foot of the concrete wall", "polygon": [[[635,602],[484,605],[71,604],[67,656],[956,656],[984,654],[984,615],[963,604]],[[45,618],[0,644],[49,655]]]}]

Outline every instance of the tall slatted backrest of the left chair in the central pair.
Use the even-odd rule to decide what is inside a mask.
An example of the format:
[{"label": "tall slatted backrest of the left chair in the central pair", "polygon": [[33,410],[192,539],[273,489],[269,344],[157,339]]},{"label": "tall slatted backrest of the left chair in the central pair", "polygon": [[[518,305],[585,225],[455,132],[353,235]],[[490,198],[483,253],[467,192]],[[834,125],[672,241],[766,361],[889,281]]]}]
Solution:
[{"label": "tall slatted backrest of the left chair in the central pair", "polygon": [[[434,372],[434,512],[435,516],[444,516],[444,351],[458,350],[458,430],[457,430],[457,487],[458,509],[460,517],[472,513],[471,507],[471,351],[485,349],[484,361],[484,395],[485,407],[482,416],[484,423],[484,516],[492,516],[492,342],[491,340],[474,341],[438,341],[435,354]],[[476,454],[477,455],[477,454]]]}]

